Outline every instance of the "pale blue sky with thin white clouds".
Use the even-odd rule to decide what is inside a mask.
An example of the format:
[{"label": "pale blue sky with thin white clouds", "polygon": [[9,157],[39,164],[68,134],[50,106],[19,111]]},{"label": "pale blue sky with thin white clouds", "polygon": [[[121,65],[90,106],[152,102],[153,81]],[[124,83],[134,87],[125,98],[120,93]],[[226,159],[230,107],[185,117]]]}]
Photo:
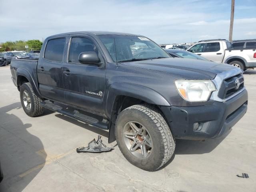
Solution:
[{"label": "pale blue sky with thin white clouds", "polygon": [[[228,39],[231,0],[1,0],[0,42],[99,30],[158,44]],[[256,38],[256,0],[235,0],[233,40]]]}]

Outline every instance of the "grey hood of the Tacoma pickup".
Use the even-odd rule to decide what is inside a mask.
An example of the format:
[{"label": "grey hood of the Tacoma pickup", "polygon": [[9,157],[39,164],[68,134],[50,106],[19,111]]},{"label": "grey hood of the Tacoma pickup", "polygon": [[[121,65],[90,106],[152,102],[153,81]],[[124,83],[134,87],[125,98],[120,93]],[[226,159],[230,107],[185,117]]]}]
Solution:
[{"label": "grey hood of the Tacoma pickup", "polygon": [[166,72],[188,80],[214,79],[217,74],[234,69],[234,66],[228,64],[185,58],[162,58],[121,64]]}]

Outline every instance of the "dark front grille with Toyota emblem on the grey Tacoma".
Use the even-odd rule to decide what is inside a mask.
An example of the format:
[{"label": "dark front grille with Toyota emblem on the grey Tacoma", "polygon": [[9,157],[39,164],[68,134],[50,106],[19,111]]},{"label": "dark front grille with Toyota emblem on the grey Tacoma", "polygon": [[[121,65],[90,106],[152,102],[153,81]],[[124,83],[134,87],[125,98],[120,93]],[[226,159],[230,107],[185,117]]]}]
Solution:
[{"label": "dark front grille with Toyota emblem on the grey Tacoma", "polygon": [[[239,79],[240,86],[236,89],[235,80]],[[218,93],[218,97],[221,99],[229,98],[230,96],[234,95],[236,92],[240,91],[244,88],[244,78],[242,74],[238,74],[236,76],[230,77],[225,79],[220,86],[220,90]]]}]

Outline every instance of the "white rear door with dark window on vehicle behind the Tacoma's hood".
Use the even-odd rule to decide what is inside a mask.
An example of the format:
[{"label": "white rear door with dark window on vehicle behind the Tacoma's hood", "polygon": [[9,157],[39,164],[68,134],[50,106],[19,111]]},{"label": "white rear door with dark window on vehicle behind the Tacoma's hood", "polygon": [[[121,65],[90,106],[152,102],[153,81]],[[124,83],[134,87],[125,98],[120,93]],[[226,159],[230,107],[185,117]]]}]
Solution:
[{"label": "white rear door with dark window on vehicle behind the Tacoma's hood", "polygon": [[221,62],[224,55],[223,53],[224,50],[220,42],[208,42],[204,47],[202,57],[211,61]]}]

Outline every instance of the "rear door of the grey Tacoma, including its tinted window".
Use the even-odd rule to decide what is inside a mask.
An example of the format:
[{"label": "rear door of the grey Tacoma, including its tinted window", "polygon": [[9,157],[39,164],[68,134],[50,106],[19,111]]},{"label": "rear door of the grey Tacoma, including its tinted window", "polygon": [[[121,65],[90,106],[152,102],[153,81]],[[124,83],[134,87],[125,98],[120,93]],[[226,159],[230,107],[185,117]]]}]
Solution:
[{"label": "rear door of the grey Tacoma, including its tinted window", "polygon": [[47,39],[43,56],[37,66],[39,89],[45,98],[64,101],[62,67],[68,36]]}]

